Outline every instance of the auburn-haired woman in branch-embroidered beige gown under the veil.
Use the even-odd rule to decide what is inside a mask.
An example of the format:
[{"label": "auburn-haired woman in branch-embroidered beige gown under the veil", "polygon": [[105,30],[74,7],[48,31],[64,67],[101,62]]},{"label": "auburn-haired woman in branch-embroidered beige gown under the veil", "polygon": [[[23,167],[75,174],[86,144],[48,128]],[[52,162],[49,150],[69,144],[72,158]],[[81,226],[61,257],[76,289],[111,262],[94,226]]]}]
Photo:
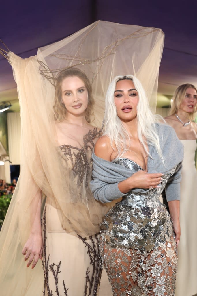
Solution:
[{"label": "auburn-haired woman in branch-embroidered beige gown under the veil", "polygon": [[[89,189],[91,154],[100,134],[97,128],[89,124],[93,104],[92,86],[81,70],[71,68],[58,74],[54,101],[57,150],[62,168],[69,170],[71,186],[78,187],[81,196],[86,190],[89,202],[94,200]],[[101,276],[97,234],[89,237],[70,234],[61,223],[58,208],[48,197],[43,212],[42,231],[41,189],[38,189],[37,195],[40,199],[37,214],[22,251],[27,267],[31,263],[32,268],[35,267],[43,250],[44,295],[54,295],[55,292],[68,296],[97,295]],[[72,208],[70,210],[71,215],[77,215]],[[74,284],[76,280],[77,285]]]}]

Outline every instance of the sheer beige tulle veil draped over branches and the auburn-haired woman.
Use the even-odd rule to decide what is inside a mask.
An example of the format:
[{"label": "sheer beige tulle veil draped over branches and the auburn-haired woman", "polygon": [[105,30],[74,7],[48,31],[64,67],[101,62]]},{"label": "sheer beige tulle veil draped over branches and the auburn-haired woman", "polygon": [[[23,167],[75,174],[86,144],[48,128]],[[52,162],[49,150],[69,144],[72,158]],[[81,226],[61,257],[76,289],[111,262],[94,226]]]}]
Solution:
[{"label": "sheer beige tulle veil draped over branches and the auburn-haired woman", "polygon": [[32,271],[26,268],[22,255],[38,206],[38,190],[43,192],[43,203],[47,196],[58,210],[63,229],[75,236],[98,233],[102,215],[108,210],[94,200],[85,184],[76,186],[72,182],[69,166],[62,167],[53,113],[56,76],[69,67],[77,67],[87,75],[95,99],[93,126],[102,125],[105,93],[116,75],[136,75],[154,111],[163,41],[160,29],[97,21],[38,49],[37,56],[22,59],[9,52],[20,101],[21,168],[0,233],[2,296],[42,295],[41,261]]}]

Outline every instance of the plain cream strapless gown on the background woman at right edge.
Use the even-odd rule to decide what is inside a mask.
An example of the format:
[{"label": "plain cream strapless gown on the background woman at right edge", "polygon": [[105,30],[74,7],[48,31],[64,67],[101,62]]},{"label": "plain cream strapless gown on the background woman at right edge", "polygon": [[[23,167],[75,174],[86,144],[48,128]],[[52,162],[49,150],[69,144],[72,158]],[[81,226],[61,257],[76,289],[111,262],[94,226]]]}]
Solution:
[{"label": "plain cream strapless gown on the background woman at right edge", "polygon": [[180,140],[184,145],[181,180],[178,269],[175,296],[197,293],[197,171],[194,155],[196,140]]}]

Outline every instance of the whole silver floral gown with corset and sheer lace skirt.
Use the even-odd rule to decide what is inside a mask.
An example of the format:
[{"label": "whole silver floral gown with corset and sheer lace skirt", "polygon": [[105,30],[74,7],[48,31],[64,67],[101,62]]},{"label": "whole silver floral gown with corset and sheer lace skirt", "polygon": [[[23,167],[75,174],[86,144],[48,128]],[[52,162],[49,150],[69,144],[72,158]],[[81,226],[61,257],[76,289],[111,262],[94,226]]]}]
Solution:
[{"label": "whole silver floral gown with corset and sheer lace skirt", "polygon": [[[127,158],[117,164],[142,168]],[[129,191],[101,225],[100,254],[114,296],[172,296],[175,291],[177,247],[172,221],[159,195],[175,168],[162,176],[160,188]]]}]

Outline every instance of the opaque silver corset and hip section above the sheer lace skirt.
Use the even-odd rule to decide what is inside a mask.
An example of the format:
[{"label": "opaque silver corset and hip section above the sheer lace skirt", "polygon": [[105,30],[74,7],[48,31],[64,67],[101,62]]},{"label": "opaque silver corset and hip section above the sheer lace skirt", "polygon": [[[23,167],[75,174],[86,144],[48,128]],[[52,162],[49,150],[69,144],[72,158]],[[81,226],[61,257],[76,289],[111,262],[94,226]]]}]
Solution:
[{"label": "opaque silver corset and hip section above the sheer lace skirt", "polygon": [[[143,170],[127,158],[120,158],[116,163],[132,171]],[[171,218],[159,196],[175,169],[162,176],[160,188],[149,189],[145,193],[131,190],[110,209],[101,224],[105,243],[112,248],[150,251],[171,241],[174,236]]]}]

